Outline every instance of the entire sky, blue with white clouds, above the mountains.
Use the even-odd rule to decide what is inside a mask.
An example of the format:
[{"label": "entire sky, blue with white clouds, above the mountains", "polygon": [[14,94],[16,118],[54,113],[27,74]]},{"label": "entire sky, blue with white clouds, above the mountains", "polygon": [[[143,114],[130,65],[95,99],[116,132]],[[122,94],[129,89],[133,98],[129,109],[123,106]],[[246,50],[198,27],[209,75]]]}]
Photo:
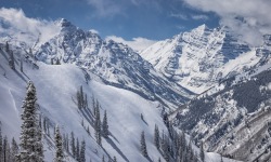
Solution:
[{"label": "entire sky, blue with white clouds, above the mountains", "polygon": [[64,17],[140,51],[206,24],[228,26],[240,40],[260,45],[271,33],[270,8],[270,0],[0,0],[0,21],[12,26],[0,26],[0,33],[34,29],[34,36],[46,32],[47,40],[57,35],[52,22]]}]

